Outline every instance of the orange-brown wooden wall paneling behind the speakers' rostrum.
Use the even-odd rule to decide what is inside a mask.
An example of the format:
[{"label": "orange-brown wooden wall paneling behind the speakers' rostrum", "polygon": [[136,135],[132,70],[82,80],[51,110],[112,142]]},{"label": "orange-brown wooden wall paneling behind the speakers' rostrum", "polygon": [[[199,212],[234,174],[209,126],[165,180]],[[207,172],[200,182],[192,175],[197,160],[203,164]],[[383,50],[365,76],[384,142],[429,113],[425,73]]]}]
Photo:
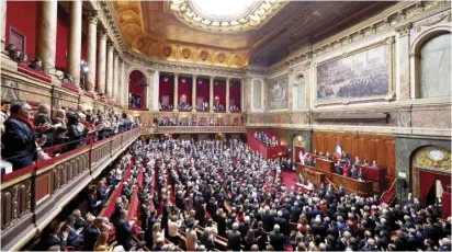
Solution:
[{"label": "orange-brown wooden wall paneling behind the speakers' rostrum", "polygon": [[357,133],[314,133],[313,148],[318,152],[335,152],[336,142],[340,141],[343,151],[361,162],[376,160],[380,167],[387,169],[387,177],[395,177],[395,138],[393,136],[361,135]]}]

